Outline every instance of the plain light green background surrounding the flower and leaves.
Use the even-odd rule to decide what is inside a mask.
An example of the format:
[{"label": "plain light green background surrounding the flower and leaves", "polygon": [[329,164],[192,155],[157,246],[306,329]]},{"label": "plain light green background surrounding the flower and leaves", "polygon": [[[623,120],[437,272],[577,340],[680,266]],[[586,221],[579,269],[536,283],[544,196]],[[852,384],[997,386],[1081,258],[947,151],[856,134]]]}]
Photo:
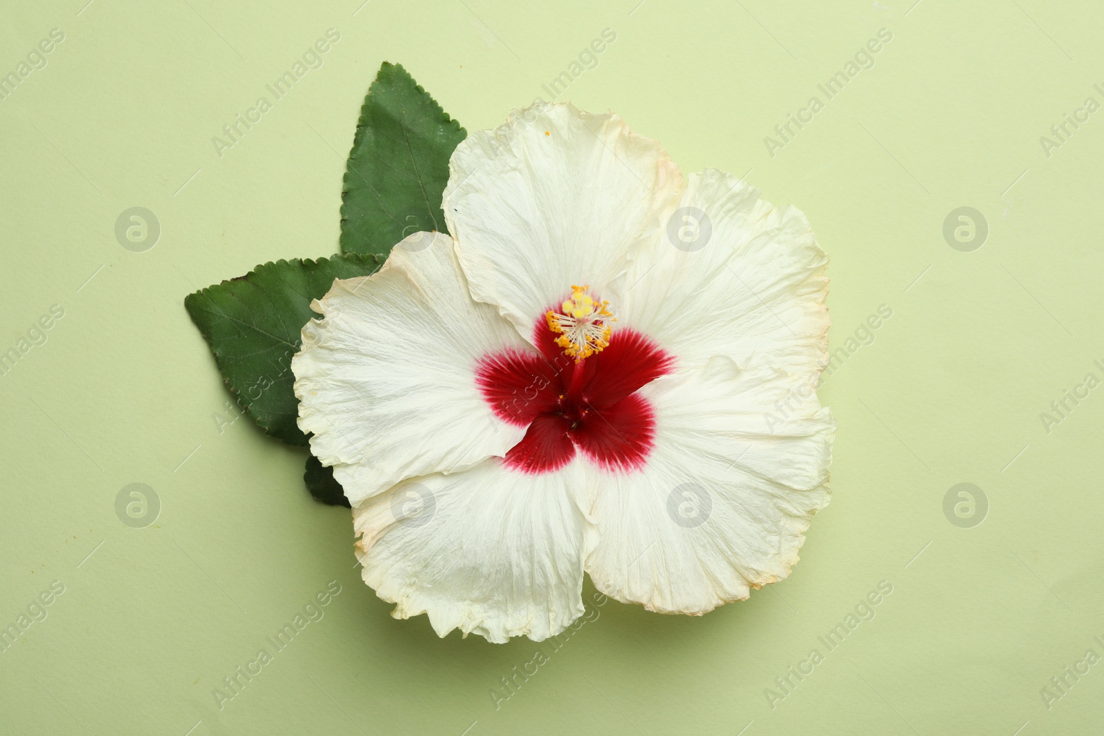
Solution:
[{"label": "plain light green background surrounding the flower and leaves", "polygon": [[[0,730],[1101,727],[1104,663],[1050,708],[1040,689],[1086,649],[1104,655],[1104,390],[1049,433],[1040,413],[1104,378],[1104,111],[1050,157],[1039,138],[1087,96],[1104,103],[1104,11],[637,1],[3,3],[0,72],[52,28],[65,41],[0,100],[0,351],[52,305],[65,316],[0,376],[0,623],[51,580],[65,593],[0,653]],[[211,138],[329,28],[341,40],[325,65],[216,156]],[[834,348],[881,305],[893,314],[821,390],[839,420],[834,500],[789,579],[700,619],[611,601],[541,647],[550,661],[496,710],[491,690],[540,646],[391,619],[353,569],[349,512],[304,490],[301,454],[247,418],[220,434],[229,393],[182,299],[337,249],[344,156],[381,61],[473,130],[546,97],[605,28],[616,41],[562,98],[620,113],[684,171],[750,170],[804,210],[832,258]],[[764,136],[824,102],[817,84],[882,28],[874,66],[768,156]],[[131,206],[162,228],[145,253],[115,238]],[[972,253],[943,238],[959,206],[988,221]],[[162,502],[146,529],[115,513],[132,482]],[[943,512],[959,482],[988,498],[972,529]],[[220,711],[212,689],[332,579],[325,618]],[[875,618],[772,708],[774,679],[826,652],[817,637],[880,580],[893,593]]]}]

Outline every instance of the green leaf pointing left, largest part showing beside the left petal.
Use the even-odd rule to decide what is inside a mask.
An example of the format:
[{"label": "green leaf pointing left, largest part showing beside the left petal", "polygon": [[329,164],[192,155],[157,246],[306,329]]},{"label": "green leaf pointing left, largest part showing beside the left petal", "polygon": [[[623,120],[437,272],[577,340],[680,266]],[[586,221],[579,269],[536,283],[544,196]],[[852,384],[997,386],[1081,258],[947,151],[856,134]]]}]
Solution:
[{"label": "green leaf pointing left, largest part showing beside the left petal", "polygon": [[184,299],[226,386],[266,434],[288,445],[307,444],[296,426],[291,356],[299,351],[302,326],[318,317],[310,301],[325,296],[333,279],[367,276],[381,263],[358,254],[277,260]]}]

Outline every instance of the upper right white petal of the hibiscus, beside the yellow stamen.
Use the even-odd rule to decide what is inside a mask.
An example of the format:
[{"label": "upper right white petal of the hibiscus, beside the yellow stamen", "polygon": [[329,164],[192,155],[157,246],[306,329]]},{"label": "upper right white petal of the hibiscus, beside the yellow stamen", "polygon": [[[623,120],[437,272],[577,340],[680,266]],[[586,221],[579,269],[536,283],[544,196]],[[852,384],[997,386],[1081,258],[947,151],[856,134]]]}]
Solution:
[{"label": "upper right white petal of the hibiscus, beside the yellow stamen", "polygon": [[618,323],[684,366],[713,355],[746,366],[758,355],[819,374],[828,362],[828,258],[805,215],[716,170],[690,174],[672,207],[611,290]]}]

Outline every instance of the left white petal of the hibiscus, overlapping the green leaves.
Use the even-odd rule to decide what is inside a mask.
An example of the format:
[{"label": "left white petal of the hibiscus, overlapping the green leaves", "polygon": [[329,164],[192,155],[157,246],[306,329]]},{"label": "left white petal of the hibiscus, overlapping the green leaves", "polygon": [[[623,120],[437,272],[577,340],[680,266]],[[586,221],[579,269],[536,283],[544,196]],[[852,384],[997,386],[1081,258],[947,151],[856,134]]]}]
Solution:
[{"label": "left white petal of the hibiscus, overlapping the green leaves", "polygon": [[302,328],[291,361],[299,428],[353,504],[502,456],[524,435],[492,415],[474,365],[526,343],[471,301],[447,235],[407,237],[378,273],[336,280],[312,308],[325,318]]}]

